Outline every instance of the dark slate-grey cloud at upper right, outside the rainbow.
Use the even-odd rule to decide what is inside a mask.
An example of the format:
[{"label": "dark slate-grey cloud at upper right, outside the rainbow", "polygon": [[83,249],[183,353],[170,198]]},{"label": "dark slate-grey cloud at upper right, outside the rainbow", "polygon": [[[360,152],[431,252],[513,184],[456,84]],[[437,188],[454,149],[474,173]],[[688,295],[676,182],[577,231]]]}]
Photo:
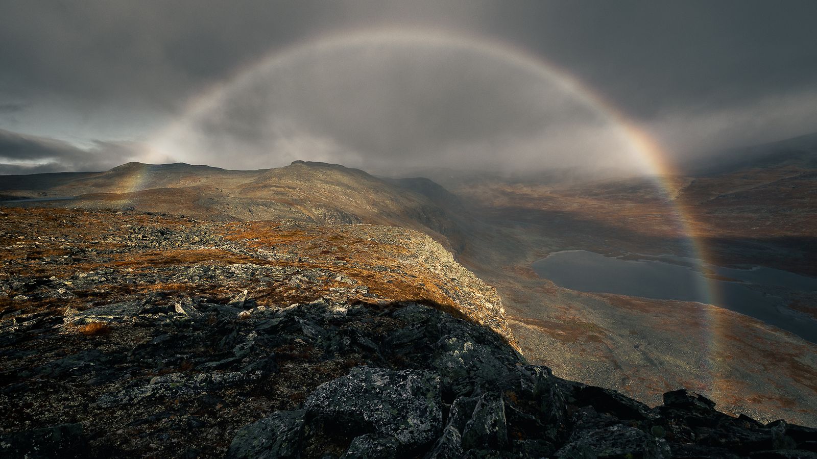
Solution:
[{"label": "dark slate-grey cloud at upper right, outside the rainbow", "polygon": [[[817,2],[503,2],[493,29],[578,74],[628,114],[813,90]],[[507,35],[506,35],[507,36]]]}]

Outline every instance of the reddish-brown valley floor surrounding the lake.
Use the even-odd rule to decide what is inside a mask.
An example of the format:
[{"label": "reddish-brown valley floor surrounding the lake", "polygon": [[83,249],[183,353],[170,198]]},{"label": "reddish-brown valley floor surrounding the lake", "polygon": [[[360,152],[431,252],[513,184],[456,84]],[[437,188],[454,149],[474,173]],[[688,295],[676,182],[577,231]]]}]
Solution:
[{"label": "reddish-brown valley floor surrounding the lake", "polygon": [[[727,412],[817,424],[810,409],[817,406],[817,345],[713,305],[575,292],[534,273],[534,261],[560,250],[689,255],[676,204],[656,194],[653,185],[604,183],[594,189],[583,184],[565,190],[472,183],[453,188],[471,198],[472,212],[483,221],[460,260],[497,287],[529,359],[562,377],[613,387],[645,403],[659,403],[663,391],[684,386],[707,394]],[[688,183],[679,189],[703,194]],[[774,195],[747,199],[742,212],[752,214],[751,220],[730,220],[722,212],[739,197],[731,199],[696,207],[701,237],[729,235],[713,245],[713,261],[814,274],[808,261],[813,248],[781,242],[817,240],[813,206],[801,202],[799,208],[779,209]],[[752,232],[761,225],[758,216],[787,224]],[[755,240],[742,242],[750,234]],[[789,307],[795,314],[814,314],[817,293],[802,293]]]}]

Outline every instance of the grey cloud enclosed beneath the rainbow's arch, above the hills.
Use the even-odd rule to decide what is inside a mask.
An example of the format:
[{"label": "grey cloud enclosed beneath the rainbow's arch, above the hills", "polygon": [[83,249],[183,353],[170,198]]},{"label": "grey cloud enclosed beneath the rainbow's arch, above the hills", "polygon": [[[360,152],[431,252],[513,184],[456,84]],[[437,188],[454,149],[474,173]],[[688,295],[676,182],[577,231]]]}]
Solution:
[{"label": "grey cloud enclosed beneath the rainbow's arch, above the hills", "polygon": [[[380,172],[600,163],[603,149],[587,145],[588,134],[600,136],[608,122],[580,96],[504,50],[379,33],[305,47],[255,69],[164,150],[225,167],[226,158],[231,167],[310,159]],[[607,148],[626,148],[609,134]]]}]

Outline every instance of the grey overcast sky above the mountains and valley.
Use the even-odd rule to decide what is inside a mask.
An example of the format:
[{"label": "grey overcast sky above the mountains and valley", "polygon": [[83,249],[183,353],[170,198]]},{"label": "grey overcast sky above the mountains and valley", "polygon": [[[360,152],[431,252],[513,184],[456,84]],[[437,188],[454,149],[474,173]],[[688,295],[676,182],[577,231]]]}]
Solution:
[{"label": "grey overcast sky above the mountains and valley", "polygon": [[632,145],[588,91],[689,158],[817,131],[815,17],[810,0],[0,2],[0,173],[618,163]]}]

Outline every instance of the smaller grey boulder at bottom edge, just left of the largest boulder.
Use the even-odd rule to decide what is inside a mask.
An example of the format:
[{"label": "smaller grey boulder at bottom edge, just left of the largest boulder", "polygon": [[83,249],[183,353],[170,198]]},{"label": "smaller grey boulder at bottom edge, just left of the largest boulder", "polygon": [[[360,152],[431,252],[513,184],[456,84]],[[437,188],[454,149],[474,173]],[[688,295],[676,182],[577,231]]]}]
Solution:
[{"label": "smaller grey boulder at bottom edge, just left of the largest boulder", "polygon": [[243,426],[230,443],[227,459],[301,457],[301,431],[306,412],[279,411]]}]

